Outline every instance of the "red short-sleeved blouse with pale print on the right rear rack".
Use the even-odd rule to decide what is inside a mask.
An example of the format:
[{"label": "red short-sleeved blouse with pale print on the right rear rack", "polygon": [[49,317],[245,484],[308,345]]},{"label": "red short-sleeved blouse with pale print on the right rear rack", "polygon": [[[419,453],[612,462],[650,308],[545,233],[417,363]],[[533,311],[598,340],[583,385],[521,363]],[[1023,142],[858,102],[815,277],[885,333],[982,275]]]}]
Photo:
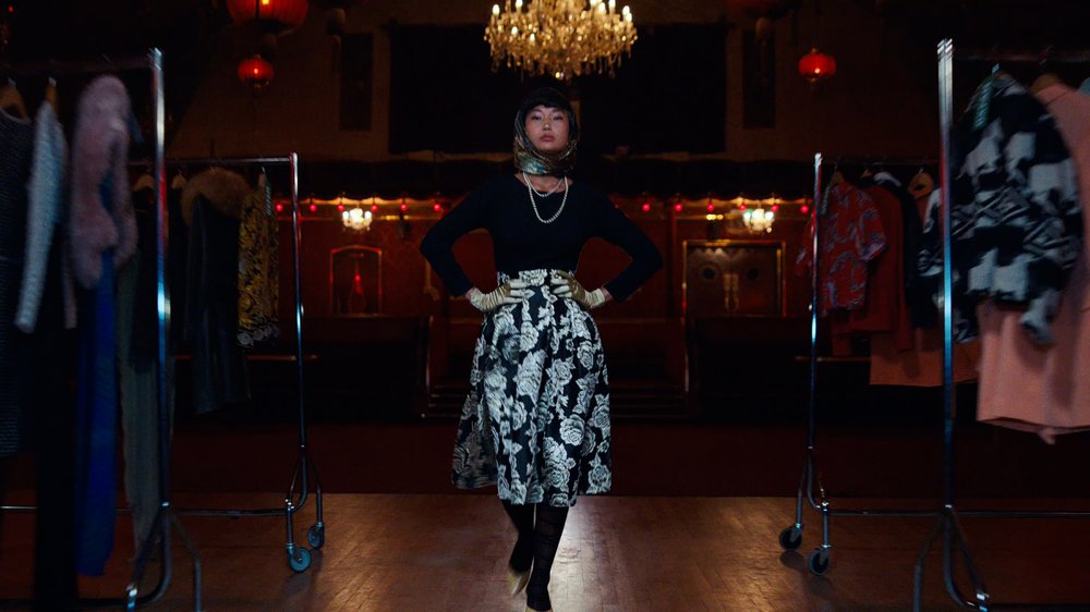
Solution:
[{"label": "red short-sleeved blouse with pale print on the right rear rack", "polygon": [[[844,308],[858,310],[867,299],[867,262],[886,248],[886,233],[874,200],[855,185],[837,183],[825,191],[821,218],[821,315]],[[807,244],[813,243],[811,217]],[[798,270],[807,270],[812,256],[803,248],[796,260]]]}]

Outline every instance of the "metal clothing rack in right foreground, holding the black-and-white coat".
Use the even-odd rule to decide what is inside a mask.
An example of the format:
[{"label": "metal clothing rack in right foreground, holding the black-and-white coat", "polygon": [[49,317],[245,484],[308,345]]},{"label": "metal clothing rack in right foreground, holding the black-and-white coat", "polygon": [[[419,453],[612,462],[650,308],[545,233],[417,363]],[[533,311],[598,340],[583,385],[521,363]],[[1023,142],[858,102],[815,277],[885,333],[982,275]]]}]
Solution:
[{"label": "metal clothing rack in right foreground, holding the black-and-white coat", "polygon": [[[938,119],[941,130],[941,162],[940,189],[942,196],[943,227],[943,497],[942,510],[931,535],[928,536],[916,560],[913,571],[913,610],[922,610],[923,601],[923,566],[928,555],[933,550],[935,541],[942,534],[943,579],[946,591],[961,608],[971,610],[1028,609],[1033,610],[1086,610],[1090,603],[1065,603],[1042,605],[1034,603],[1001,603],[991,602],[991,596],[984,586],[984,580],[969,549],[965,529],[959,516],[983,516],[991,518],[1087,518],[1090,512],[1008,512],[1008,511],[968,511],[958,512],[955,507],[954,486],[954,326],[953,326],[953,267],[952,267],[952,225],[950,225],[950,146],[954,124],[954,60],[967,61],[1004,61],[1004,62],[1037,62],[1042,56],[1029,53],[997,53],[967,51],[955,57],[954,40],[946,38],[938,44]],[[1090,52],[1061,53],[1047,56],[1049,61],[1066,61],[1073,63],[1090,63]],[[954,577],[954,554],[960,554],[973,593],[971,598],[962,595]]]}]

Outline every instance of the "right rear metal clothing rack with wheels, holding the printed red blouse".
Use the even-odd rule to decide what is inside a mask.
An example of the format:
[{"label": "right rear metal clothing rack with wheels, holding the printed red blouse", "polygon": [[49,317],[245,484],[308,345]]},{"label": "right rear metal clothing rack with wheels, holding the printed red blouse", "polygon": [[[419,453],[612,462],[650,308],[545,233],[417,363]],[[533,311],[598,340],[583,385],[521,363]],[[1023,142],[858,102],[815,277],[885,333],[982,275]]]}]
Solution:
[{"label": "right rear metal clothing rack with wheels, holding the printed red blouse", "polygon": [[[873,157],[836,157],[833,163],[851,163],[860,166],[889,164],[901,167],[930,167],[938,160],[929,158],[873,158]],[[818,356],[818,313],[820,310],[821,279],[819,261],[821,260],[820,238],[821,238],[821,215],[819,210],[822,203],[823,168],[828,161],[823,160],[821,152],[814,154],[814,233],[810,246],[810,393],[807,400],[807,449],[802,461],[802,475],[799,477],[799,488],[795,500],[795,524],[785,527],[779,533],[779,546],[784,550],[796,550],[802,544],[802,507],[803,500],[810,507],[821,514],[822,517],[822,541],[808,556],[807,567],[815,575],[824,575],[828,572],[833,546],[829,543],[829,518],[833,516],[935,516],[934,511],[916,510],[894,510],[894,509],[834,509],[829,502],[826,489],[821,478],[821,470],[818,468],[818,448],[815,443],[816,434],[816,391],[818,391],[818,365],[822,360]],[[816,489],[816,498],[814,495]]]}]

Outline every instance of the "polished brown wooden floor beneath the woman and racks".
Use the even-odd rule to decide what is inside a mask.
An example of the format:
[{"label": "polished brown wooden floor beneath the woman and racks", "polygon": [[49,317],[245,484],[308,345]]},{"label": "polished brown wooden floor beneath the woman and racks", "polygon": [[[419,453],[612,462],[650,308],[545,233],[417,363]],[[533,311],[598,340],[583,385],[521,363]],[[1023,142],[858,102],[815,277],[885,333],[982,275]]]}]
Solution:
[{"label": "polished brown wooden floor beneath the woman and racks", "polygon": [[[275,505],[278,497],[178,495],[175,502],[254,507]],[[833,566],[818,577],[806,567],[806,554],[820,539],[815,515],[807,514],[798,552],[784,552],[777,542],[794,522],[794,507],[785,498],[581,498],[554,566],[554,609],[911,608],[912,565],[934,519],[834,518]],[[296,517],[296,537],[305,538],[313,503]],[[0,597],[29,592],[33,521],[33,514],[4,516]],[[488,494],[326,494],[326,543],[301,574],[287,565],[280,517],[183,516],[182,522],[199,547],[205,610],[521,611],[525,604],[505,593],[513,528]],[[1087,523],[967,518],[965,524],[995,601],[1090,602]],[[107,575],[84,580],[85,596],[121,595],[131,566],[130,529],[120,517]],[[173,558],[173,583],[147,610],[193,609],[192,566],[180,544]],[[925,608],[954,610],[938,562],[937,555],[929,560]],[[153,570],[149,586],[158,565]]]}]

